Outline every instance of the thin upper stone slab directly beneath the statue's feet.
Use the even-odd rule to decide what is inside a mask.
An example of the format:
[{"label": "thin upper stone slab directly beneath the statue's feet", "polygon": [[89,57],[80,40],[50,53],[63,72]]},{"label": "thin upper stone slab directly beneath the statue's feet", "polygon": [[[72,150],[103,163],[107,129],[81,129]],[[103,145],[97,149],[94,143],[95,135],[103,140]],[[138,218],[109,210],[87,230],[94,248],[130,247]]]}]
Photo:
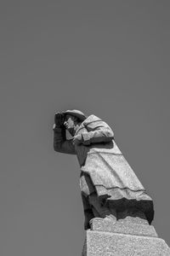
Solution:
[{"label": "thin upper stone slab directly beneath the statue's feet", "polygon": [[157,237],[156,230],[152,225],[132,224],[126,221],[117,221],[116,224],[114,224],[102,218],[94,218],[91,224],[91,230]]}]

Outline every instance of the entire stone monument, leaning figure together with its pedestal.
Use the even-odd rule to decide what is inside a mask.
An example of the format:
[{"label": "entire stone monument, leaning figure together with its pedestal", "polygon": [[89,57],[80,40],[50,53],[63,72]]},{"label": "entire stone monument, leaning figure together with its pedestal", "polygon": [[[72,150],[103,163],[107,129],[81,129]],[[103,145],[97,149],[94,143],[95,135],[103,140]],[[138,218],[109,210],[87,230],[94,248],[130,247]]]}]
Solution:
[{"label": "entire stone monument, leaning figure together with its pedestal", "polygon": [[[66,130],[71,139],[66,138]],[[153,201],[105,121],[75,109],[55,113],[54,150],[77,154],[81,167],[83,256],[170,255],[151,225]]]}]

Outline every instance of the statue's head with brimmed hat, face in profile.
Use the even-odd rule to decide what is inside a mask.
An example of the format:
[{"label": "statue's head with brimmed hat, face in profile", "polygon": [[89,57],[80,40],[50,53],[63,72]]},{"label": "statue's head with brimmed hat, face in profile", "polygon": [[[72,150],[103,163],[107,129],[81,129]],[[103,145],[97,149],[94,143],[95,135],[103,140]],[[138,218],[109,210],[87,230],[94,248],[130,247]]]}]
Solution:
[{"label": "statue's head with brimmed hat, face in profile", "polygon": [[71,135],[74,135],[78,126],[87,118],[84,113],[76,109],[66,110],[63,114],[65,117],[65,128],[71,133]]}]

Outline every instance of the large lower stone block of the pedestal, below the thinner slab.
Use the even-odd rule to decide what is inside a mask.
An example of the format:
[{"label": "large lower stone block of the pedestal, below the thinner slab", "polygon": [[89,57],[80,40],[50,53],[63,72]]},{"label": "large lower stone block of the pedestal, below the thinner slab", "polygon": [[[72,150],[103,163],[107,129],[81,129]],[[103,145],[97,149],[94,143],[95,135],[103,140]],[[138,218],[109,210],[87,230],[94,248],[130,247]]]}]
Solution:
[{"label": "large lower stone block of the pedestal, below the thinner slab", "polygon": [[110,232],[86,232],[83,256],[170,256],[166,242],[157,237]]}]

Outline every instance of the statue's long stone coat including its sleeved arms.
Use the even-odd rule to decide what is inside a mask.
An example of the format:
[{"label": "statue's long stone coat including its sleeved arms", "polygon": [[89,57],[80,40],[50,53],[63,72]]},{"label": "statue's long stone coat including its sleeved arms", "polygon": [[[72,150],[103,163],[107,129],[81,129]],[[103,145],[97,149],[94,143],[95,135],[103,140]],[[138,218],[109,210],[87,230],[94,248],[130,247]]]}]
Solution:
[{"label": "statue's long stone coat including its sleeved arms", "polygon": [[64,127],[56,127],[54,150],[77,154],[84,207],[88,207],[85,198],[95,192],[102,204],[109,202],[117,211],[136,207],[151,223],[153,201],[117,147],[111,127],[92,114],[82,122],[77,135],[81,135],[81,143],[73,145],[72,139],[66,140]]}]

